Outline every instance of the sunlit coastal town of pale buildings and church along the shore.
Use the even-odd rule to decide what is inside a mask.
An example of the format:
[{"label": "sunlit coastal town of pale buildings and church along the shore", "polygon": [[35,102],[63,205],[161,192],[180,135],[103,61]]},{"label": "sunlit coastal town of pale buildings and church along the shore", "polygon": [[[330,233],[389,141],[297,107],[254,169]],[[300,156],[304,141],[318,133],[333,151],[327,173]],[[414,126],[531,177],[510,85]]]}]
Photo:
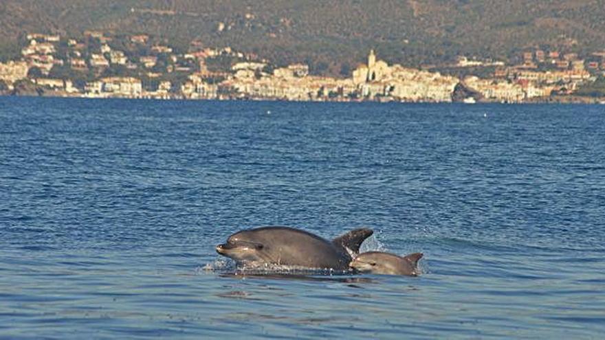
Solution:
[{"label": "sunlit coastal town of pale buildings and church along the shore", "polygon": [[[177,52],[147,34],[86,31],[78,37],[27,34],[21,57],[0,63],[0,94],[83,98],[381,102],[603,102],[585,95],[602,82],[605,52],[531,49],[516,65],[459,56],[444,69],[389,65],[377,51],[348,77],[311,74],[309,65],[274,65],[248,52],[192,41]],[[475,75],[483,68],[489,73]],[[485,73],[485,72],[484,72]],[[582,94],[584,93],[584,95]]]}]

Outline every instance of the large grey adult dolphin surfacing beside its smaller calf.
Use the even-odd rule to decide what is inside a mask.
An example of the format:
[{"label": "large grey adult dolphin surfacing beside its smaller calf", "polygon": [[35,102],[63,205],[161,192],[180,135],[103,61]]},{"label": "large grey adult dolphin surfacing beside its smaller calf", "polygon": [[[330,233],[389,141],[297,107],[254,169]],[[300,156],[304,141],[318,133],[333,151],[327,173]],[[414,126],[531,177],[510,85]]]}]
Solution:
[{"label": "large grey adult dolphin surfacing beside its smaller calf", "polygon": [[351,254],[359,253],[372,229],[355,229],[329,241],[307,231],[290,227],[259,227],[238,231],[217,253],[232,258],[244,267],[305,267],[349,270]]}]

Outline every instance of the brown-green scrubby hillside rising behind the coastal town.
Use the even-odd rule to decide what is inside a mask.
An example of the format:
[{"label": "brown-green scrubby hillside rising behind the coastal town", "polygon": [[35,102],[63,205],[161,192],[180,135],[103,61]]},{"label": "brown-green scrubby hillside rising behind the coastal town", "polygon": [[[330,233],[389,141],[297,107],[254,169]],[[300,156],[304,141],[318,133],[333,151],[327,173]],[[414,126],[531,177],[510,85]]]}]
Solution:
[{"label": "brown-green scrubby hillside rising behind the coastal town", "polygon": [[600,0],[196,1],[3,0],[0,51],[25,32],[155,34],[186,49],[231,46],[316,73],[348,73],[371,47],[391,63],[444,63],[459,55],[509,60],[541,47],[605,48]]}]

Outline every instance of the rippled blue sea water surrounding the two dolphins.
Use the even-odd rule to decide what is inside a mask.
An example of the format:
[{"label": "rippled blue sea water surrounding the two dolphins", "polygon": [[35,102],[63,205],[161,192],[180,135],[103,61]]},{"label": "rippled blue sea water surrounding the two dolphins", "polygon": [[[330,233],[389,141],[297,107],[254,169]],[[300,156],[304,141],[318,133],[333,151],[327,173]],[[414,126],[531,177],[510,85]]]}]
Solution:
[{"label": "rippled blue sea water surrounding the two dolphins", "polygon": [[[0,97],[0,338],[602,339],[605,106]],[[289,225],[419,277],[232,275]]]}]

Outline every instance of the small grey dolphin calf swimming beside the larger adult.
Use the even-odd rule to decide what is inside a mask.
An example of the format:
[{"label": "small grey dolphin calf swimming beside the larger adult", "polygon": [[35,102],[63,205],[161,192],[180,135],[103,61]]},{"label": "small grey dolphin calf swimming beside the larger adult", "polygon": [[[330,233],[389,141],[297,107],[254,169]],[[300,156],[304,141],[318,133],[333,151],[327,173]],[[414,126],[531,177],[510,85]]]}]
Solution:
[{"label": "small grey dolphin calf swimming beside the larger adult", "polygon": [[361,273],[416,276],[419,274],[418,260],[422,256],[422,253],[412,253],[401,257],[393,253],[369,251],[356,256],[349,263],[349,267]]}]

